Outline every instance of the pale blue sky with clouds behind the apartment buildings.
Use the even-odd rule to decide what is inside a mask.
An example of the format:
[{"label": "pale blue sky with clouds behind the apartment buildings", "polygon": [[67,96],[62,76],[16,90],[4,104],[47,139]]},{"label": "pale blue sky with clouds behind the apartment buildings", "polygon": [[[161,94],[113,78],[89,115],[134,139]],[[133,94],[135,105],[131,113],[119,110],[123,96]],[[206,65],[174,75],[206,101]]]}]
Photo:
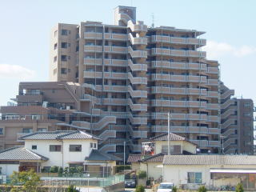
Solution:
[{"label": "pale blue sky with clouds behind the apartment buildings", "polygon": [[18,94],[19,82],[48,81],[50,29],[58,22],[114,24],[114,7],[136,6],[151,26],[206,31],[203,49],[218,60],[221,79],[238,98],[256,102],[254,0],[0,0],[0,106]]}]

